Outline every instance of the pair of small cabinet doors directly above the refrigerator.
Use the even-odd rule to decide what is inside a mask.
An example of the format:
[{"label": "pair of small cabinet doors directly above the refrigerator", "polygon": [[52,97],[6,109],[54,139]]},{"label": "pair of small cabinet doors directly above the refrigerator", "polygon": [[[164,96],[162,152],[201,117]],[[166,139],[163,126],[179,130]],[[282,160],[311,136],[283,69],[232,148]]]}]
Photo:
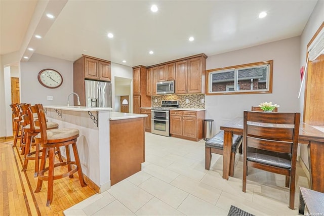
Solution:
[{"label": "pair of small cabinet doors directly above the refrigerator", "polygon": [[83,55],[86,79],[111,81],[110,61]]}]

